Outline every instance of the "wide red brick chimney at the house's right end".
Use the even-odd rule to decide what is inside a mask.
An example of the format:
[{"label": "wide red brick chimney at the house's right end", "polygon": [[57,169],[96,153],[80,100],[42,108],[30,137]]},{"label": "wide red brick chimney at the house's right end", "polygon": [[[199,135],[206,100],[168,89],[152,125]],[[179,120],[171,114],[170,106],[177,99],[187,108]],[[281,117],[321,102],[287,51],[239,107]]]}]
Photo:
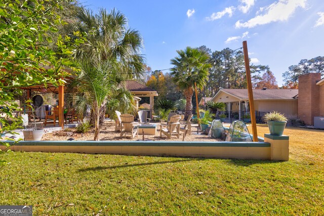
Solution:
[{"label": "wide red brick chimney at the house's right end", "polygon": [[298,116],[308,125],[314,125],[314,116],[319,116],[320,73],[307,73],[298,77]]}]

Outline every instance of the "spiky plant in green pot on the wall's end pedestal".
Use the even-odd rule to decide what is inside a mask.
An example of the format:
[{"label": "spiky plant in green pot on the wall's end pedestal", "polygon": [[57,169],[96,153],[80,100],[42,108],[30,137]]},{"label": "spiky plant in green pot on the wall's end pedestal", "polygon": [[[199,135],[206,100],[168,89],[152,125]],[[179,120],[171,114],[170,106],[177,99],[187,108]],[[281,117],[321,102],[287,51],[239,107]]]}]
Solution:
[{"label": "spiky plant in green pot on the wall's end pedestal", "polygon": [[268,123],[271,135],[281,136],[287,124],[287,118],[277,111],[266,113],[263,120]]}]

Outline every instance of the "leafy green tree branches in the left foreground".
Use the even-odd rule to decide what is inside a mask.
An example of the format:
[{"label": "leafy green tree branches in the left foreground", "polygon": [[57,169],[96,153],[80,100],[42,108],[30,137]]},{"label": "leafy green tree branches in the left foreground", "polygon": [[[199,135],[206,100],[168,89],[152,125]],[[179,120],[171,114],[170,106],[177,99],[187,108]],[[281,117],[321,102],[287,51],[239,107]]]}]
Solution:
[{"label": "leafy green tree branches in the left foreground", "polygon": [[[0,2],[0,111],[13,122],[0,118],[0,137],[12,133],[21,123],[12,115],[13,111],[20,110],[19,104],[13,101],[17,95],[22,95],[21,88],[39,84],[47,87],[49,83],[58,87],[64,85],[64,77],[70,75],[65,67],[69,67],[69,71],[76,70],[71,54],[83,38],[78,32],[72,32],[71,35],[79,37],[72,43],[71,37],[58,33],[58,27],[65,24],[56,13],[62,10],[62,3]],[[0,163],[6,161],[0,159]]]}]

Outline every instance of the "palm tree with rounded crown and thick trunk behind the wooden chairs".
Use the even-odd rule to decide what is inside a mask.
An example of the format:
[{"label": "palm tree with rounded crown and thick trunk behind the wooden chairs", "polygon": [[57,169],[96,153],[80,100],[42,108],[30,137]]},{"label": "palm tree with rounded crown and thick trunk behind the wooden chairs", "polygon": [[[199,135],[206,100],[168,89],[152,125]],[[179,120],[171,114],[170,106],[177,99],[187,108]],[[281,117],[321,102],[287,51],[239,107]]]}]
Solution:
[{"label": "palm tree with rounded crown and thick trunk behind the wooden chairs", "polygon": [[178,57],[171,59],[174,67],[171,69],[173,81],[182,90],[186,98],[185,116],[192,114],[192,96],[194,83],[198,89],[203,89],[209,75],[209,56],[198,49],[187,47],[185,50],[177,50]]}]

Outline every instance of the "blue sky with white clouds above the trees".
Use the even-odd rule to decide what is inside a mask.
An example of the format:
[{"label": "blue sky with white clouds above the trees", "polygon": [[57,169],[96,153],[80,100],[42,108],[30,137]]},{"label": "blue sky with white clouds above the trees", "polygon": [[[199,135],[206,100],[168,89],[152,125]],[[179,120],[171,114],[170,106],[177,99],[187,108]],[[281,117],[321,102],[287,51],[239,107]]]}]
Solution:
[{"label": "blue sky with white clouds above the trees", "polygon": [[86,1],[88,8],[116,8],[144,39],[152,70],[172,67],[176,50],[237,49],[248,41],[254,64],[269,65],[278,85],[282,73],[301,59],[324,54],[324,0]]}]

